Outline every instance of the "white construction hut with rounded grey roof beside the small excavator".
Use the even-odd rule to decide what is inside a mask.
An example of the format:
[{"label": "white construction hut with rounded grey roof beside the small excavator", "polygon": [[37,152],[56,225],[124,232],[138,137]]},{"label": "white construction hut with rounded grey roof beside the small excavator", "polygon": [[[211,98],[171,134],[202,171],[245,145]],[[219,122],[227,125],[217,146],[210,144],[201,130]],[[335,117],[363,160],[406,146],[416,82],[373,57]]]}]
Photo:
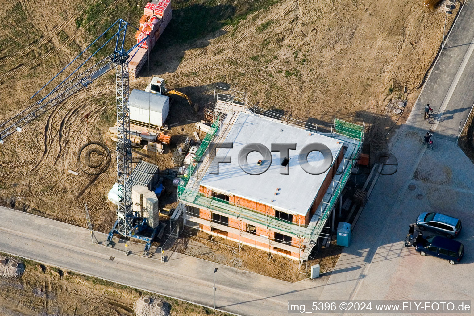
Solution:
[{"label": "white construction hut with rounded grey roof beside the small excavator", "polygon": [[130,93],[130,119],[163,126],[170,110],[170,98],[158,93],[132,90]]}]

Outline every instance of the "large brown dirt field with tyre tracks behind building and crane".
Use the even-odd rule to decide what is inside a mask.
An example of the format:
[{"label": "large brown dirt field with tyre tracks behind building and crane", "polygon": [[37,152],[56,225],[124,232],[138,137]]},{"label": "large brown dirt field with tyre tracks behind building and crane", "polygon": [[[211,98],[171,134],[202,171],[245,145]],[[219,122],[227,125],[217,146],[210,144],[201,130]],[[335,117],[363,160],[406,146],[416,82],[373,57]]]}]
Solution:
[{"label": "large brown dirt field with tyre tracks behind building and crane", "polygon": [[[101,3],[109,5],[101,8]],[[129,7],[120,17],[133,23],[144,3],[6,1],[0,13],[0,121],[25,108],[29,97],[86,47],[94,17],[115,17]],[[364,123],[366,141],[382,151],[392,126],[408,117],[437,54],[445,17],[438,9],[423,7],[421,0],[174,3],[173,20],[149,63],[130,81],[131,89],[143,90],[158,75],[169,88],[201,104],[197,114],[184,100],[173,104],[168,123],[179,124],[171,130],[168,152],[155,158],[160,170],[171,167],[174,146],[192,137],[193,123],[185,119],[202,118],[216,83],[246,91],[253,104],[313,123],[327,124],[333,117]],[[261,9],[252,7],[254,3],[262,4]],[[448,26],[458,9],[459,2]],[[216,31],[191,34],[196,29],[192,23],[201,22],[195,12],[202,21],[215,17],[222,27],[214,23],[210,30]],[[239,18],[230,19],[228,12]],[[115,143],[108,134],[115,120],[113,78],[104,75],[5,140],[0,146],[1,204],[85,227],[87,203],[94,229],[109,231],[116,217],[107,200],[116,181]],[[406,98],[407,107],[395,115],[393,102]],[[97,178],[68,173],[79,171],[77,153],[89,141],[112,149],[108,170]],[[136,150],[134,158],[143,154]],[[175,194],[167,183],[161,206],[172,205]]]}]

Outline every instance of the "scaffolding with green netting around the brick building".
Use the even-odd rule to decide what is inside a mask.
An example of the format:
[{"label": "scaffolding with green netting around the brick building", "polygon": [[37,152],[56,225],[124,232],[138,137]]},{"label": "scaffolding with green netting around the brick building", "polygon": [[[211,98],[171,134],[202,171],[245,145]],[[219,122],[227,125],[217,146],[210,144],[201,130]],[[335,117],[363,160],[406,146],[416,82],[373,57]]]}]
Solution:
[{"label": "scaffolding with green netting around the brick building", "polygon": [[[222,90],[224,92],[227,91],[228,93],[219,92]],[[214,117],[216,117],[216,119],[210,126],[209,132],[204,137],[200,147],[196,151],[193,163],[191,163],[178,184],[178,199],[186,205],[190,205],[195,208],[203,208],[208,211],[210,214],[210,235],[213,235],[213,213],[235,217],[238,219],[239,244],[242,243],[243,230],[246,229],[246,227],[242,227],[242,225],[246,226],[246,224],[250,224],[265,227],[267,232],[273,231],[283,233],[284,235],[289,235],[292,236],[292,238],[296,238],[297,245],[293,248],[295,249],[295,252],[299,250],[298,260],[300,263],[302,261],[307,261],[312,249],[318,244],[318,238],[320,237],[321,232],[326,225],[330,212],[334,208],[339,195],[342,192],[342,189],[346,185],[352,168],[354,167],[354,164],[360,154],[361,146],[364,140],[364,126],[349,123],[337,118],[334,118],[330,125],[314,125],[294,119],[292,117],[277,115],[275,112],[259,108],[255,105],[249,105],[246,99],[246,93],[222,88],[219,86],[216,86],[214,102],[216,111],[216,115]],[[250,111],[255,115],[279,121],[286,125],[296,126],[298,128],[318,132],[329,137],[352,142],[352,150],[344,154],[343,162],[340,164],[338,172],[332,180],[332,185],[328,188],[318,210],[316,211],[315,215],[313,215],[308,225],[300,223],[299,220],[297,220],[296,223],[293,223],[278,217],[271,216],[271,208],[268,208],[265,213],[262,213],[242,206],[239,203],[239,200],[237,200],[237,202],[229,202],[224,199],[213,197],[211,194],[200,192],[199,185],[196,186],[196,184],[198,184],[201,180],[200,178],[205,173],[205,171],[200,171],[198,172],[200,175],[194,175],[195,171],[200,169],[197,162],[201,161],[201,158],[208,151],[210,144],[213,140],[215,140],[216,136],[223,140],[226,136],[225,134],[228,133],[229,126],[232,126],[232,117],[228,117],[227,115],[222,116],[220,114],[235,114],[235,112],[238,111]],[[228,121],[227,124],[223,126],[222,123],[224,120],[226,120],[225,117],[227,117]],[[209,158],[211,159],[210,156]],[[193,184],[188,185],[189,181],[193,177],[195,178]],[[196,217],[195,214],[193,216]],[[197,217],[199,217],[199,215],[197,215]],[[192,219],[190,220],[192,221]],[[272,253],[274,253],[272,246],[277,241],[274,240],[275,238],[274,236],[271,236],[271,234],[267,235],[269,258],[271,258]],[[239,246],[239,249],[240,248],[241,246]]]}]

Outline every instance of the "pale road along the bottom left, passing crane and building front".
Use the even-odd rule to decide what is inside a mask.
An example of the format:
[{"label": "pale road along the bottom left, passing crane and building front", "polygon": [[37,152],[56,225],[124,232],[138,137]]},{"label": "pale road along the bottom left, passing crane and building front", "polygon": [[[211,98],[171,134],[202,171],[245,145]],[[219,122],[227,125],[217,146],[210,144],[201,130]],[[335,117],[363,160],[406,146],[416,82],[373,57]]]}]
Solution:
[{"label": "pale road along the bottom left, passing crane and building front", "polygon": [[283,315],[289,299],[319,296],[328,280],[292,284],[177,253],[162,263],[92,244],[82,227],[2,207],[0,218],[0,251],[206,306],[217,267],[217,305],[239,315]]}]

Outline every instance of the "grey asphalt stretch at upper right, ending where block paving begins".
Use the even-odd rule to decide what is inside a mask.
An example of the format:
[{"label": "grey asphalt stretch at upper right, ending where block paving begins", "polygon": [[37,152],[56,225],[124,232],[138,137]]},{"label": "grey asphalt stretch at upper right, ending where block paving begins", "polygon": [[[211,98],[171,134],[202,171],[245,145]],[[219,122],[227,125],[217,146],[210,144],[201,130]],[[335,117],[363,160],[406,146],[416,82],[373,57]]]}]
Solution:
[{"label": "grey asphalt stretch at upper right, ending where block paving begins", "polygon": [[[456,140],[474,104],[474,11],[467,1],[446,41],[406,126],[436,129],[436,136]],[[428,125],[423,108],[429,103],[434,118]]]}]

